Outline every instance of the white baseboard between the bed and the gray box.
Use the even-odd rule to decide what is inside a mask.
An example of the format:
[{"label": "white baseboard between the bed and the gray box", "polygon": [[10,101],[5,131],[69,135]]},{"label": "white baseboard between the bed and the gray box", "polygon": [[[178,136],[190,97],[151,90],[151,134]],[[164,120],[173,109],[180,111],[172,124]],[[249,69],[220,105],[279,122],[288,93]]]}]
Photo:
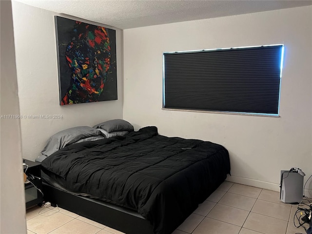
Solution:
[{"label": "white baseboard between the bed and the gray box", "polygon": [[267,189],[267,190],[272,190],[279,192],[279,186],[278,184],[274,184],[271,182],[266,182],[266,181],[261,181],[261,180],[256,180],[256,179],[251,179],[251,178],[246,178],[246,177],[239,177],[239,176],[229,176],[226,178],[226,181],[229,182],[234,182],[238,184],[244,184],[244,185],[249,185],[261,189]]}]

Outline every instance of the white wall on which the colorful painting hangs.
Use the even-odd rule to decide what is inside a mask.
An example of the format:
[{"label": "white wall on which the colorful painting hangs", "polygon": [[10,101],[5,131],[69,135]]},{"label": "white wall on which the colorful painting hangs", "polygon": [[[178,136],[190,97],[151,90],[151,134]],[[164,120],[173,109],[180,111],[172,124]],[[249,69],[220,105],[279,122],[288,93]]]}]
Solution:
[{"label": "white wall on which the colorful painting hangs", "polygon": [[60,106],[54,16],[62,15],[16,1],[12,5],[20,114],[62,115],[61,119],[21,119],[23,157],[35,160],[47,139],[66,128],[122,118],[122,30],[109,27],[116,30],[118,100]]}]

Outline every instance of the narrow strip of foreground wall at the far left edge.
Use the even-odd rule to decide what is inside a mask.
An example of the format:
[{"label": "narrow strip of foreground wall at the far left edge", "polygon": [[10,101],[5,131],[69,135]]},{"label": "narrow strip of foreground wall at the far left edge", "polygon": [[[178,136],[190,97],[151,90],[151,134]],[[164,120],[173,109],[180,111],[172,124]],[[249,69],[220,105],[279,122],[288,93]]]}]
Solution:
[{"label": "narrow strip of foreground wall at the far left edge", "polygon": [[1,156],[0,233],[26,233],[25,196],[21,157],[18,83],[16,77],[11,1],[1,9]]}]

